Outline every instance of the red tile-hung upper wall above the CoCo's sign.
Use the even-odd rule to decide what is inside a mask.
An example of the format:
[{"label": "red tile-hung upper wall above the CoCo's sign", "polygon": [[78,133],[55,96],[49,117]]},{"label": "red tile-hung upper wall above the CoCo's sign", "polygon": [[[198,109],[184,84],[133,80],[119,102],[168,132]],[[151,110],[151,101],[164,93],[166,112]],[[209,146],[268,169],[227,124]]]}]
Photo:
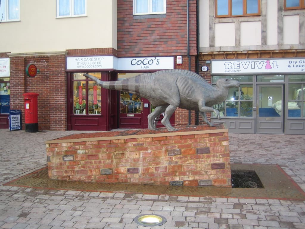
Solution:
[{"label": "red tile-hung upper wall above the CoCo's sign", "polygon": [[[118,56],[187,54],[187,1],[166,1],[165,18],[137,19],[133,0],[117,1]],[[196,55],[196,0],[189,1],[190,55]]]}]

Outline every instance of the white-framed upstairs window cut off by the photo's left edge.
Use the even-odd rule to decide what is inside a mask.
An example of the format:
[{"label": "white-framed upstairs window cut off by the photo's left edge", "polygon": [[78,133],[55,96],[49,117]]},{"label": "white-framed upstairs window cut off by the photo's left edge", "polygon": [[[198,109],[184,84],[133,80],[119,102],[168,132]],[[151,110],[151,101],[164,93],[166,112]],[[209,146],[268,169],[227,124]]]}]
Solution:
[{"label": "white-framed upstairs window cut off by the photo's left edge", "polygon": [[20,21],[20,0],[2,0],[0,21]]}]

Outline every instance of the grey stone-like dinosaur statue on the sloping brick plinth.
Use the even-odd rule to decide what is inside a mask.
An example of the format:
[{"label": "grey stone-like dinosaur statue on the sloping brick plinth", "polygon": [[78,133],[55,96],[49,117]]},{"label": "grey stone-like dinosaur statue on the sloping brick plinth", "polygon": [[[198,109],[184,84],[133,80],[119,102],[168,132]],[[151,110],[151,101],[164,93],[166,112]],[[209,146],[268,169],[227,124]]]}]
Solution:
[{"label": "grey stone-like dinosaur statue on the sloping brick plinth", "polygon": [[210,85],[198,74],[192,71],[174,69],[154,73],[143,73],[131,78],[117,81],[101,81],[95,76],[84,74],[94,80],[102,88],[127,91],[137,94],[155,106],[155,110],[148,115],[148,128],[156,130],[155,118],[164,114],[161,123],[168,131],[176,131],[170,124],[170,117],[180,107],[186,110],[199,111],[204,122],[213,126],[206,118],[206,112],[219,112],[213,105],[222,103],[228,96],[228,89],[239,87],[236,80],[221,78],[216,82],[216,87]]}]

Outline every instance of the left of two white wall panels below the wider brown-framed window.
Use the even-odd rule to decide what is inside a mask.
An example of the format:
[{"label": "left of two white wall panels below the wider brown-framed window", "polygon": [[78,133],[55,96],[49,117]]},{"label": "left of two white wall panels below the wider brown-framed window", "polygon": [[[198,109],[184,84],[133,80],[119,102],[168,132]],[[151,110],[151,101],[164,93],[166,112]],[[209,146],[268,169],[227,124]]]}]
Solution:
[{"label": "left of two white wall panels below the wider brown-framed window", "polygon": [[235,24],[216,23],[215,26],[215,46],[234,46],[235,45]]}]

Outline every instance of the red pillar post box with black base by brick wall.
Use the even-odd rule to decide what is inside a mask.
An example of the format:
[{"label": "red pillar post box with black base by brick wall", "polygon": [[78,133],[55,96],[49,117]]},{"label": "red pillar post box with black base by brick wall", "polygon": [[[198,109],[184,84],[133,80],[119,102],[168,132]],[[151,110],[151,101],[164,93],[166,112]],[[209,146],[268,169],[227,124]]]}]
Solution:
[{"label": "red pillar post box with black base by brick wall", "polygon": [[24,93],[25,132],[38,132],[38,96],[37,93]]}]

